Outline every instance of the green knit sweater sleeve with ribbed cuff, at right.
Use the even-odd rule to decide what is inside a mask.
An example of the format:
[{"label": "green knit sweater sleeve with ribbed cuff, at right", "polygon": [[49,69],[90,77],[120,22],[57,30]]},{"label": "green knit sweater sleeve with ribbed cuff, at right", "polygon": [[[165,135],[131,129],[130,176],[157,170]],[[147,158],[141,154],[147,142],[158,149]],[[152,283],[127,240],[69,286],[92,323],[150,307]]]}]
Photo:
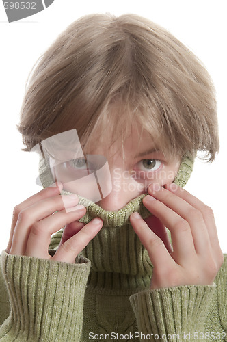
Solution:
[{"label": "green knit sweater sleeve with ribbed cuff, at right", "polygon": [[155,339],[156,334],[165,342],[227,341],[226,276],[225,255],[213,285],[166,287],[131,295],[141,337],[153,334]]}]

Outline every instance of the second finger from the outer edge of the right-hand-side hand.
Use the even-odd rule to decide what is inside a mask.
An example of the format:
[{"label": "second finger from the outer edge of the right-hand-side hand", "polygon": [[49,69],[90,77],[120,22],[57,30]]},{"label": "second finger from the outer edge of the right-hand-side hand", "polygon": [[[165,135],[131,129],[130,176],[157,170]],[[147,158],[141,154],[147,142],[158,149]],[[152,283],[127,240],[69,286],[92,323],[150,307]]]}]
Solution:
[{"label": "second finger from the outer edge of the right-hand-side hand", "polygon": [[[149,187],[148,192],[166,207],[172,209],[172,211],[181,216],[181,218],[189,224],[195,250],[197,253],[204,254],[210,246],[210,242],[206,224],[200,210],[163,187],[153,185]],[[185,224],[185,226],[187,225]]]}]

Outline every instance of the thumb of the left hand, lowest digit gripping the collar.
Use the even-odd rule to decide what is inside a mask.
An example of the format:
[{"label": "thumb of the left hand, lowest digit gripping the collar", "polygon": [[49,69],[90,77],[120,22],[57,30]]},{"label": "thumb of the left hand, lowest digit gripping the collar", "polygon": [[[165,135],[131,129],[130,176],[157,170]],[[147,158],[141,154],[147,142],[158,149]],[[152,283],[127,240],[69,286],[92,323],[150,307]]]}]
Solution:
[{"label": "thumb of the left hand, lowest digit gripping the collar", "polygon": [[53,260],[74,263],[77,255],[88,245],[88,243],[101,230],[103,221],[100,218],[94,218],[79,231],[76,235],[64,242],[57,249]]}]

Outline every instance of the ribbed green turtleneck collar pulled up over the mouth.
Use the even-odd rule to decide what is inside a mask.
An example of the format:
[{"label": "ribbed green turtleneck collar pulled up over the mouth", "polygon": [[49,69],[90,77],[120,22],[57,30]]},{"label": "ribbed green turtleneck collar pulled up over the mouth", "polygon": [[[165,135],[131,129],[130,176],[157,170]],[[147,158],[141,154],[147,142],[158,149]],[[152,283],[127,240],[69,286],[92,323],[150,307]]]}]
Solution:
[{"label": "ribbed green turtleneck collar pulled up over the mouth", "polygon": [[[183,157],[174,183],[183,187],[192,169],[193,158]],[[44,187],[54,182],[48,164],[43,159],[40,161],[40,179]],[[70,193],[63,190],[62,194]],[[142,218],[151,215],[142,203],[144,196],[146,194],[137,196],[117,211],[106,211],[94,202],[80,197],[79,203],[87,208],[80,221],[86,224],[96,216],[103,220],[101,231],[81,252],[91,261],[90,285],[112,291],[119,287],[132,289],[132,284],[137,289],[144,288],[150,283],[152,264],[148,252],[129,222],[131,213],[135,211]]]}]

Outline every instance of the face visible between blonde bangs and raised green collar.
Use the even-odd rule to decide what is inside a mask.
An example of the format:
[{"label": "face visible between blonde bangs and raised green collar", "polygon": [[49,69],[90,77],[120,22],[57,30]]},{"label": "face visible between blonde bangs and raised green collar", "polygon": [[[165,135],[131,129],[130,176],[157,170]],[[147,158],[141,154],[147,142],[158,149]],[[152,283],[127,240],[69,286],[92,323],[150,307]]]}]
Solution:
[{"label": "face visible between blonde bangs and raised green collar", "polygon": [[[150,183],[165,185],[165,183],[174,180],[181,159],[167,159],[161,150],[153,150],[154,147],[148,133],[144,132],[139,139],[137,130],[133,129],[131,135],[124,142],[123,155],[122,149],[119,150],[119,144],[112,144],[109,150],[105,146],[96,146],[85,153],[85,158],[87,155],[89,162],[86,163],[85,158],[82,157],[57,166],[55,168],[55,179],[62,181],[63,184],[65,183],[64,189],[93,200],[105,210],[115,211],[124,207],[133,198],[146,193]],[[103,166],[103,173],[98,175],[98,169],[101,170],[102,166],[100,156],[104,156],[108,164],[106,163]],[[94,181],[93,183],[90,182],[87,176],[87,168],[89,164],[92,164],[92,158],[98,160],[99,164],[96,169],[96,181],[98,179],[99,188],[103,191],[102,184],[105,184],[105,190],[108,194],[103,199],[97,197],[97,200],[94,200],[92,198],[98,183],[96,181],[95,184]],[[105,158],[104,160],[106,160]],[[90,173],[92,173],[91,169],[92,167]],[[69,174],[70,179],[72,179],[73,172],[75,174],[80,172],[81,178],[78,179],[78,176],[75,176],[75,181],[70,181],[70,183],[64,181],[68,179]],[[94,172],[92,176],[94,177]]]}]

